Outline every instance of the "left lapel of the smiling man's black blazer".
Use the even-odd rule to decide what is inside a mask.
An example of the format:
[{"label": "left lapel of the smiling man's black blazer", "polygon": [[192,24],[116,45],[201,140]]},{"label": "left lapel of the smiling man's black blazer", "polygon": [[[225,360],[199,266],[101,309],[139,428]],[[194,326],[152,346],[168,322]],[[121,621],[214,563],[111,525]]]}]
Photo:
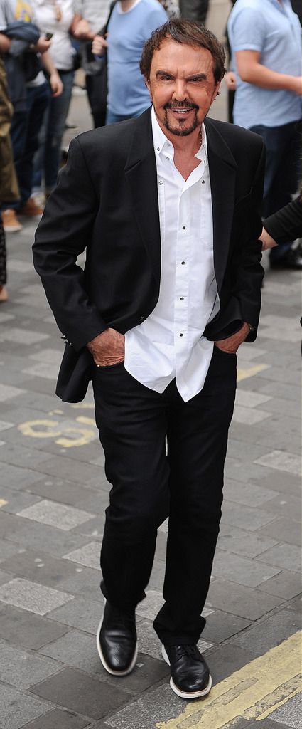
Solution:
[{"label": "left lapel of the smiling man's black blazer", "polygon": [[156,282],[161,270],[159,202],[156,160],[151,127],[151,109],[135,123],[132,144],[124,168],[130,186],[135,219],[151,261]]}]

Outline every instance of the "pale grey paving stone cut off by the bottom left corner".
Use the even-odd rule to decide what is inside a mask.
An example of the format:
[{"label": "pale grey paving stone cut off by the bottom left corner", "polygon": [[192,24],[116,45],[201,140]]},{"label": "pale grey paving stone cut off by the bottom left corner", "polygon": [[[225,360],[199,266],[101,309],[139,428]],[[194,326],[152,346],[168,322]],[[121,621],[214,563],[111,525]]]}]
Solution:
[{"label": "pale grey paving stone cut off by the bottom left corner", "polygon": [[49,703],[4,685],[0,685],[0,706],[3,729],[20,729],[49,709]]}]

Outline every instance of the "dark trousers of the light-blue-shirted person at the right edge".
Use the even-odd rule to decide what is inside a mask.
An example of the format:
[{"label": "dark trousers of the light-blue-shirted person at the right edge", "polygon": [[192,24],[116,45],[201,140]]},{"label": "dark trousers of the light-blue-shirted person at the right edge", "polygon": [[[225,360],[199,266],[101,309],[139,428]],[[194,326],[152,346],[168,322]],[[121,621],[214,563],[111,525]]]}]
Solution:
[{"label": "dark trousers of the light-blue-shirted person at the right edge", "polygon": [[[301,121],[280,127],[257,125],[251,131],[261,134],[266,145],[266,172],[263,217],[290,203],[301,179]],[[282,258],[293,241],[271,249],[271,260]]]}]

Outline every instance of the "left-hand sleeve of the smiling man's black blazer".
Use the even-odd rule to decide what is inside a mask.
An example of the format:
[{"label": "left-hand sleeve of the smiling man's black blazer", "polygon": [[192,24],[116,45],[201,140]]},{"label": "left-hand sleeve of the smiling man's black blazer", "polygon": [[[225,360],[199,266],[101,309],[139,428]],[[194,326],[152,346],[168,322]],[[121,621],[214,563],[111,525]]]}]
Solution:
[{"label": "left-hand sleeve of the smiling man's black blazer", "polygon": [[57,326],[76,351],[107,329],[85,289],[84,270],[76,262],[89,249],[98,206],[81,144],[73,139],[67,164],[36,230],[33,265]]}]

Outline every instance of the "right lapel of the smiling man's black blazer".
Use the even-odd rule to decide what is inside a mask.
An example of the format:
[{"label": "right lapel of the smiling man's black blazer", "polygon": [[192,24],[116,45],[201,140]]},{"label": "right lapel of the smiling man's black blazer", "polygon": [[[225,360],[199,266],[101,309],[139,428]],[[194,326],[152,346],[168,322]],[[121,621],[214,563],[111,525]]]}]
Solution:
[{"label": "right lapel of the smiling man's black blazer", "polygon": [[212,193],[214,269],[218,293],[220,294],[229,254],[237,163],[228,145],[215,127],[215,121],[205,119],[204,125],[207,131],[207,153]]}]

